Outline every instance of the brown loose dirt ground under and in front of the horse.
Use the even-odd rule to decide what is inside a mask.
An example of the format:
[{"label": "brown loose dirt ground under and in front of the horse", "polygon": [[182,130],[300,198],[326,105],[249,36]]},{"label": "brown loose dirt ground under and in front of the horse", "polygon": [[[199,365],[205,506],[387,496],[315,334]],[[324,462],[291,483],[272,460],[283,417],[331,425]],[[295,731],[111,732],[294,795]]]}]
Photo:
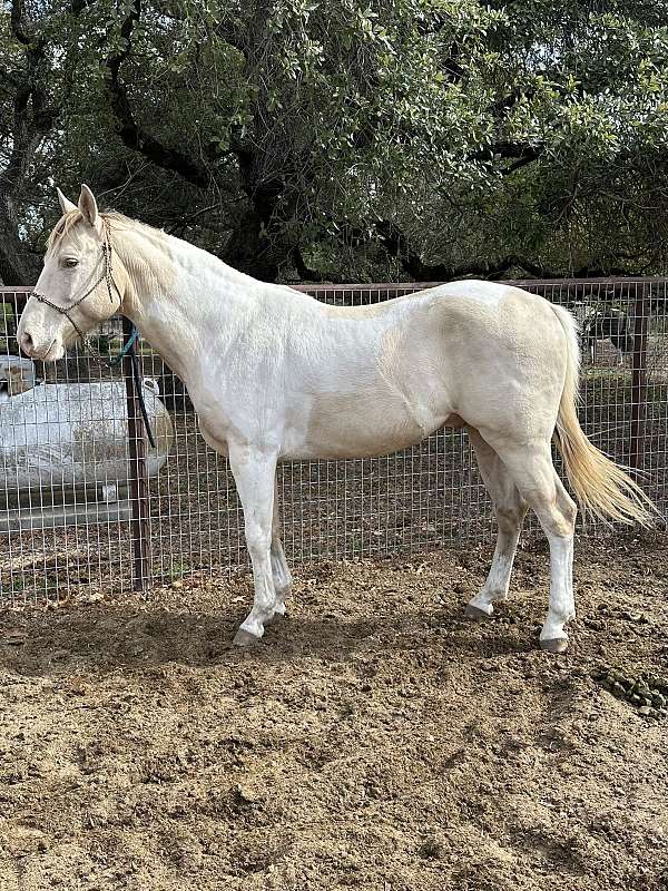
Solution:
[{"label": "brown loose dirt ground under and in front of the horse", "polygon": [[668,888],[668,536],[580,544],[572,645],[537,648],[548,558],[462,618],[490,548],[298,568],[229,640],[246,576],[0,621],[0,889]]}]

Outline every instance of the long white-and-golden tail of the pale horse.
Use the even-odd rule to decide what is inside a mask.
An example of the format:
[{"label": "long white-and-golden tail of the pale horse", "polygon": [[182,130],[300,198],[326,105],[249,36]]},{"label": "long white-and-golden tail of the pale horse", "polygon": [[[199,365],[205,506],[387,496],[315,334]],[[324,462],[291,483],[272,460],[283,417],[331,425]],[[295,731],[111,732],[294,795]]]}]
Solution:
[{"label": "long white-and-golden tail of the pale horse", "polygon": [[576,411],[580,379],[580,346],[573,316],[562,306],[552,306],[567,340],[566,381],[554,441],[563,457],[566,472],[584,516],[623,523],[654,525],[658,512],[633,480],[589,442]]}]

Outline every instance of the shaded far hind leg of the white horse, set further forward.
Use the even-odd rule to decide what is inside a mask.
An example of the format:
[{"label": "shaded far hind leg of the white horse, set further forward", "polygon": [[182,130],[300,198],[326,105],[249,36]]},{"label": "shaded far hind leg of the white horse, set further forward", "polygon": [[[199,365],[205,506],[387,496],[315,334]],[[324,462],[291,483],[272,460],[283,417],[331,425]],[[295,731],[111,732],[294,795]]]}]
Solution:
[{"label": "shaded far hind leg of the white horse, set further forward", "polygon": [[494,600],[505,600],[508,597],[512,565],[528,505],[503,461],[478,430],[469,428],[469,439],[475,450],[480,473],[494,503],[499,527],[497,548],[487,581],[469,601],[465,610],[469,618],[483,618],[492,615]]}]

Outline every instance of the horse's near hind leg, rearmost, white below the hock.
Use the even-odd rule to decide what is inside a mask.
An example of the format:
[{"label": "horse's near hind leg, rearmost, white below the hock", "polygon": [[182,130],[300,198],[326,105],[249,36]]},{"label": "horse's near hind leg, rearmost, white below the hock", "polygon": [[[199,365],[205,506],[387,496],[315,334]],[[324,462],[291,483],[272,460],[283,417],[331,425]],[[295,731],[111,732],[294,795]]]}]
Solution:
[{"label": "horse's near hind leg, rearmost, white below the hock", "polygon": [[[490,439],[494,442],[493,437]],[[540,645],[550,653],[563,653],[568,647],[564,625],[576,615],[572,581],[576,505],[552,466],[549,442],[513,446],[504,439],[495,443],[495,450],[538,516],[550,544],[550,606]]]}]

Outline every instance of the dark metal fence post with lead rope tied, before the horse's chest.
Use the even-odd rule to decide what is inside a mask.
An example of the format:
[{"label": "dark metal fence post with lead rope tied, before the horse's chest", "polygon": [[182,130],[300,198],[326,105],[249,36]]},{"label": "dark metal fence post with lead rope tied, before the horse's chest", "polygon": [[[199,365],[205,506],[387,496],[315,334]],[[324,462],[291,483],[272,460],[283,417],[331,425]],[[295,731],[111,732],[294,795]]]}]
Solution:
[{"label": "dark metal fence post with lead rope tied, before the horse's chest", "polygon": [[[127,341],[132,332],[132,324],[124,316],[122,333]],[[130,498],[132,518],[130,531],[132,538],[132,587],[143,591],[150,581],[150,521],[149,521],[149,491],[148,471],[146,467],[146,431],[144,418],[139,405],[139,396],[132,375],[132,354],[136,344],[132,344],[122,360],[122,371],[126,382],[126,400],[128,407],[128,450],[130,456]],[[137,358],[137,362],[140,359]],[[139,366],[139,371],[141,368]],[[141,378],[141,374],[139,374]]]}]

